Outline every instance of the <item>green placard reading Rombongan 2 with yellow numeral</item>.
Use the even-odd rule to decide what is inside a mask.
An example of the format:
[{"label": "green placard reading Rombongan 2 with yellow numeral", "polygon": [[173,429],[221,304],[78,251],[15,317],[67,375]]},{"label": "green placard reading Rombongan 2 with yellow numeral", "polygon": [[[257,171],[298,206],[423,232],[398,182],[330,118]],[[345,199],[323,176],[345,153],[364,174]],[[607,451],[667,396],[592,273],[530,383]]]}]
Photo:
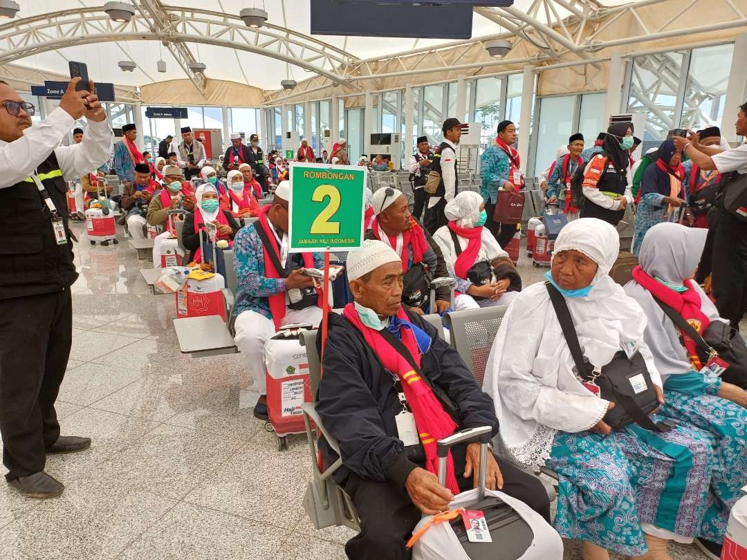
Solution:
[{"label": "green placard reading Rombongan 2 with yellow numeral", "polygon": [[359,248],[367,172],[350,165],[291,164],[288,250]]}]

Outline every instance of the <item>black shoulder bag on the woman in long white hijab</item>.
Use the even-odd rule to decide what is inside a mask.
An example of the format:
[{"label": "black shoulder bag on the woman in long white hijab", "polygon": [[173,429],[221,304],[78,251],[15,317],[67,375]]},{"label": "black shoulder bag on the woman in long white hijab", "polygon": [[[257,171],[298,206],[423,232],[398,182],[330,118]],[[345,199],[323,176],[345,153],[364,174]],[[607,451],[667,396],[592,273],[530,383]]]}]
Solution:
[{"label": "black shoulder bag on the woman in long white hijab", "polygon": [[627,354],[620,350],[609,364],[602,367],[601,372],[594,371],[592,364],[589,364],[589,361],[583,357],[571,311],[568,310],[565,298],[549,282],[546,282],[545,286],[550,293],[550,301],[555,308],[562,334],[565,342],[568,343],[568,349],[571,350],[579,376],[586,382],[598,385],[599,396],[616,405],[604,415],[604,422],[616,430],[632,423],[651,432],[672,430],[669,423],[654,422],[649,417],[649,414],[659,408],[660,403],[654,390],[654,382],[651,381],[648,367],[640,352],[636,351],[628,358]]}]

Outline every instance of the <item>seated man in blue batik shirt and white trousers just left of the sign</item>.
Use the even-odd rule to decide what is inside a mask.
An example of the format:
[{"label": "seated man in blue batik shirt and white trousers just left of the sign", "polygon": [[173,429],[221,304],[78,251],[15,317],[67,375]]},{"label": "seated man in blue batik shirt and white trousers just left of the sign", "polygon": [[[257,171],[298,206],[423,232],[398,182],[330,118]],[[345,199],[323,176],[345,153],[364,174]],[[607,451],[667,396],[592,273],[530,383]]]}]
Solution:
[{"label": "seated man in blue batik shirt and white trousers just left of the sign", "polygon": [[290,184],[282,181],[271,205],[259,220],[247,225],[234,239],[236,272],[236,336],[244,367],[261,395],[254,415],[267,420],[267,381],[264,343],[282,325],[311,323],[322,318],[320,297],[304,268],[323,268],[319,253],[288,253],[288,199]]}]

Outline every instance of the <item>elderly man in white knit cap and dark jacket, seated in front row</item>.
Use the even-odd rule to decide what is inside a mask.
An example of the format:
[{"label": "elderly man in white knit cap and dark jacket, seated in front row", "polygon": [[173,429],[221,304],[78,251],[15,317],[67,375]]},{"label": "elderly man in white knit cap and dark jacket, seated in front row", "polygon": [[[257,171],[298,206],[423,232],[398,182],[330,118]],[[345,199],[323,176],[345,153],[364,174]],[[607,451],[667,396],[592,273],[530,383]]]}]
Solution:
[{"label": "elderly man in white knit cap and dark jacket, seated in front row", "polygon": [[[477,485],[480,444],[450,453],[447,484],[436,477],[436,441],[459,429],[492,426],[492,400],[436,328],[402,304],[402,259],[379,240],[347,256],[354,302],[329,314],[316,409],[338,439],[343,466],[333,476],[358,510],[361,532],[348,558],[403,560],[421,514],[447,508]],[[320,441],[324,464],[337,455]],[[487,488],[500,489],[549,520],[539,479],[489,453]]]}]

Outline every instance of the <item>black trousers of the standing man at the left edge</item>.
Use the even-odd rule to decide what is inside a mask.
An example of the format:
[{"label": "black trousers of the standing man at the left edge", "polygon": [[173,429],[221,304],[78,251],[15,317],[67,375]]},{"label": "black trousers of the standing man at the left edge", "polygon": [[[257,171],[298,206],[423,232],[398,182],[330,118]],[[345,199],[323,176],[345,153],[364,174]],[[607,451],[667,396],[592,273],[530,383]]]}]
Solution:
[{"label": "black trousers of the standing man at the left edge", "polygon": [[38,473],[57,441],[72,343],[70,290],[0,299],[0,434],[8,480]]}]

